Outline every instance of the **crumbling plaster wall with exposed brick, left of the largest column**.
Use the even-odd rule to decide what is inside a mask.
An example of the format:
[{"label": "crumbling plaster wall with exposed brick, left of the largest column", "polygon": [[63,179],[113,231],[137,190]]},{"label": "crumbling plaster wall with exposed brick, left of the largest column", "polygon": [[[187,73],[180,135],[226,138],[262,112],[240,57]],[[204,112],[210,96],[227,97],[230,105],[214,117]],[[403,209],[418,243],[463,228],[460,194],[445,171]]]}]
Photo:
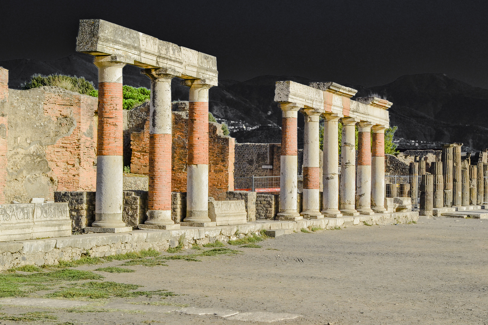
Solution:
[{"label": "crumbling plaster wall with exposed brick, left of the largest column", "polygon": [[9,89],[5,201],[94,191],[97,98],[59,87]]}]

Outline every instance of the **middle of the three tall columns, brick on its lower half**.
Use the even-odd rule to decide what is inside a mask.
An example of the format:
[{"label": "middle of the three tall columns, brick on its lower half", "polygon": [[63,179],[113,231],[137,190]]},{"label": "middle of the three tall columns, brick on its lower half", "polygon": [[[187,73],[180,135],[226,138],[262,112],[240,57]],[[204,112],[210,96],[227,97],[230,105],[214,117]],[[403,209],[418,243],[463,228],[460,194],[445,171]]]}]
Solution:
[{"label": "middle of the three tall columns, brick on its lower half", "polygon": [[171,79],[166,69],[144,69],[151,79],[147,220],[139,229],[180,229],[171,219]]}]

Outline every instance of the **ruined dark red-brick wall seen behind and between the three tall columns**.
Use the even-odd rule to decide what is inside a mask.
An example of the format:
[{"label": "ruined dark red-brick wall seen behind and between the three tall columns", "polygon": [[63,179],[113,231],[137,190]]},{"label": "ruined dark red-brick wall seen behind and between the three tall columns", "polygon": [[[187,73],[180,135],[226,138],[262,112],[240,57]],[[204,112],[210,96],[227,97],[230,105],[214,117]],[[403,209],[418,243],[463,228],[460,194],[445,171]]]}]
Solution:
[{"label": "ruined dark red-brick wall seen behind and between the three tall columns", "polygon": [[[149,104],[145,106],[149,106]],[[144,106],[140,110],[145,110]],[[146,116],[148,116],[148,113]],[[186,192],[188,113],[184,111],[172,112],[172,123],[171,191]],[[149,167],[148,118],[146,118],[143,130],[130,134],[130,141],[132,149],[130,171],[147,175]],[[209,196],[217,198],[222,192],[234,190],[234,145],[234,138],[224,136],[220,124],[208,123],[208,147],[210,148],[208,153]]]}]

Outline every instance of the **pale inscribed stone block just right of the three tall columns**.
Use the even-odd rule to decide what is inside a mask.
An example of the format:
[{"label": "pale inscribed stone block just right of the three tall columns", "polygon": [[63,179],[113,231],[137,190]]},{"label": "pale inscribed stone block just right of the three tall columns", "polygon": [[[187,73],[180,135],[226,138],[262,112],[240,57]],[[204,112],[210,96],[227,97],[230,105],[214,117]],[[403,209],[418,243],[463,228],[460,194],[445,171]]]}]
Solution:
[{"label": "pale inscribed stone block just right of the three tall columns", "polygon": [[243,225],[247,223],[244,200],[209,201],[208,217],[217,226]]}]

